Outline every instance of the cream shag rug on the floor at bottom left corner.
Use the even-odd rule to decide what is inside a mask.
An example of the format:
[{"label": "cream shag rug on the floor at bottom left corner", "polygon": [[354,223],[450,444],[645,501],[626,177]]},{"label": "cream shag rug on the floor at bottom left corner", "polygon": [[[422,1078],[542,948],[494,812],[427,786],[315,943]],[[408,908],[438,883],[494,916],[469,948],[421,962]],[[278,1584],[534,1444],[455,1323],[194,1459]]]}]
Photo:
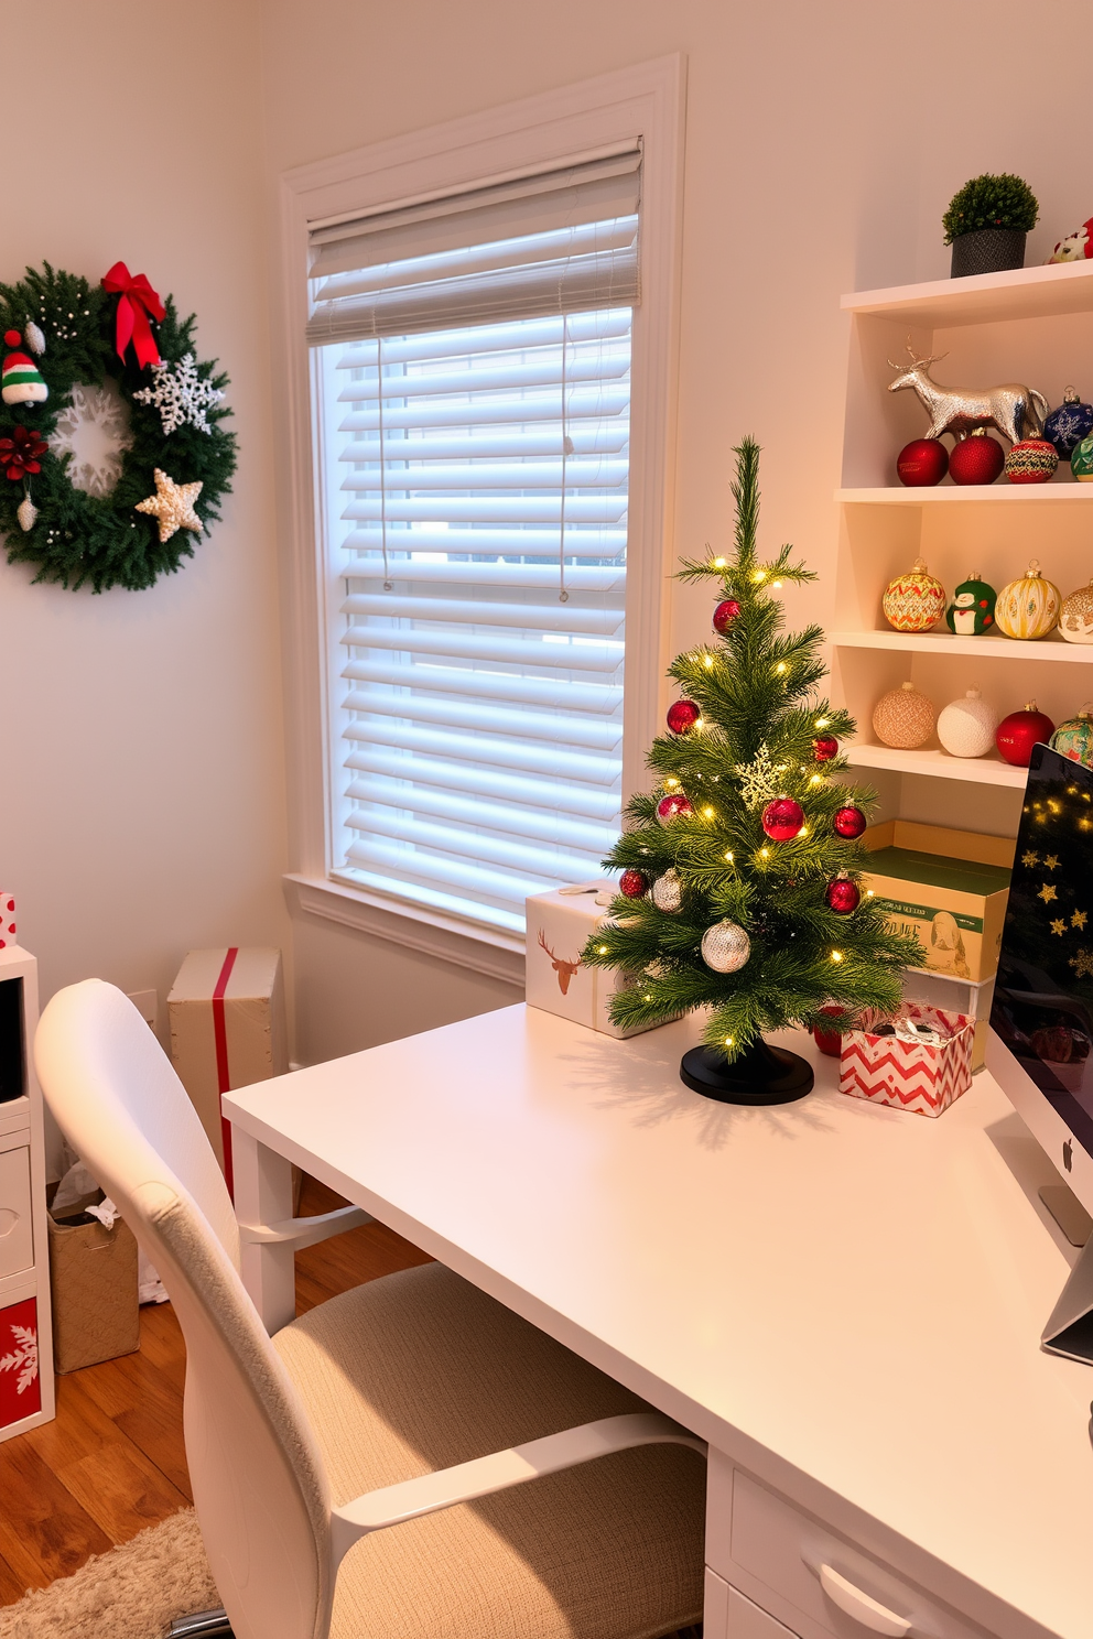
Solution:
[{"label": "cream shag rug on the floor at bottom left corner", "polygon": [[0,1606],[0,1639],[162,1639],[179,1616],[218,1605],[197,1514],[184,1508]]}]

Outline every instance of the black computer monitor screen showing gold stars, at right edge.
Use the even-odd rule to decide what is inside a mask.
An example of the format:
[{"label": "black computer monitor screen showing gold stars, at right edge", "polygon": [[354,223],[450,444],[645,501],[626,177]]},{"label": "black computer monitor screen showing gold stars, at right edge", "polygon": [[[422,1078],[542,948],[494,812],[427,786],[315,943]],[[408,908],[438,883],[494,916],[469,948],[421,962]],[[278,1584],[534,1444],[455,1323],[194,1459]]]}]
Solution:
[{"label": "black computer monitor screen showing gold stars, at right edge", "polygon": [[990,1016],[1093,1154],[1093,770],[1036,746]]}]

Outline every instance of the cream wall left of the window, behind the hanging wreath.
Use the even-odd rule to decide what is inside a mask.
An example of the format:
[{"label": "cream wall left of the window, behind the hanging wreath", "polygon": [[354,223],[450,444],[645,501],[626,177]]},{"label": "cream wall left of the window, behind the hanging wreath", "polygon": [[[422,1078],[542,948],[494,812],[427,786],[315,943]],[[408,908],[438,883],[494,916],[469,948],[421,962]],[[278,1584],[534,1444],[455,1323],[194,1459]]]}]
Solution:
[{"label": "cream wall left of the window, behind the hanging wreath", "polygon": [[0,277],[123,259],[231,375],[234,493],[177,575],[93,597],[0,567],[0,885],[46,997],[98,974],[162,1010],[190,946],[290,934],[256,7],[5,16],[43,49],[8,110]]}]

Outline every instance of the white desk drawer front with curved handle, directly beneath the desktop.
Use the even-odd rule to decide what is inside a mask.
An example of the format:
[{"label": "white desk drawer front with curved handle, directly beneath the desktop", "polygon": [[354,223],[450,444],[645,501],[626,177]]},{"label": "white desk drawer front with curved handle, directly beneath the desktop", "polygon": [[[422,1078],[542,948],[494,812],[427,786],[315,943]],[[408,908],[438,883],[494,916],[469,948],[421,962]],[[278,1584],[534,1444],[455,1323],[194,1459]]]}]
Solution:
[{"label": "white desk drawer front with curved handle, directly beneath the desktop", "polygon": [[[983,1639],[826,1526],[741,1473],[732,1480],[734,1564],[836,1639]],[[731,1572],[729,1572],[731,1575]]]}]

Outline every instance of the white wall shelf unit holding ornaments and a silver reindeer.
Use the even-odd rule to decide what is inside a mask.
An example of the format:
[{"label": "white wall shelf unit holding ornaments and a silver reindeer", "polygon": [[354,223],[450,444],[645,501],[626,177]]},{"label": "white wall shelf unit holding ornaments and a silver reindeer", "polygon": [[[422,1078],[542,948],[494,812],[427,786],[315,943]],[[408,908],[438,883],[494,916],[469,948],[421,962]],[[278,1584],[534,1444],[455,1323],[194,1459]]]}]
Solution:
[{"label": "white wall shelf unit holding ornaments and a silver reindeer", "polygon": [[972,572],[1001,590],[1036,557],[1065,597],[1093,577],[1093,484],[1064,472],[1041,485],[960,487],[946,479],[934,488],[905,488],[896,454],[923,438],[927,423],[913,392],[888,392],[888,361],[905,357],[909,343],[918,357],[939,356],[932,375],[942,385],[1026,382],[1052,408],[1070,384],[1093,398],[1093,261],[855,292],[842,298],[842,311],[850,318],[850,354],[836,490],[841,629],[829,641],[836,698],[859,723],[847,756],[877,770],[887,813],[968,826],[975,805],[972,829],[1013,833],[1023,769],[993,754],[950,757],[936,739],[921,751],[872,744],[873,706],[911,680],[937,710],[980,688],[1000,716],[1036,700],[1062,721],[1093,700],[1093,646],[1068,644],[1057,633],[1039,642],[959,638],[944,628],[896,633],[880,600],[888,580],[919,556],[950,593]]}]

